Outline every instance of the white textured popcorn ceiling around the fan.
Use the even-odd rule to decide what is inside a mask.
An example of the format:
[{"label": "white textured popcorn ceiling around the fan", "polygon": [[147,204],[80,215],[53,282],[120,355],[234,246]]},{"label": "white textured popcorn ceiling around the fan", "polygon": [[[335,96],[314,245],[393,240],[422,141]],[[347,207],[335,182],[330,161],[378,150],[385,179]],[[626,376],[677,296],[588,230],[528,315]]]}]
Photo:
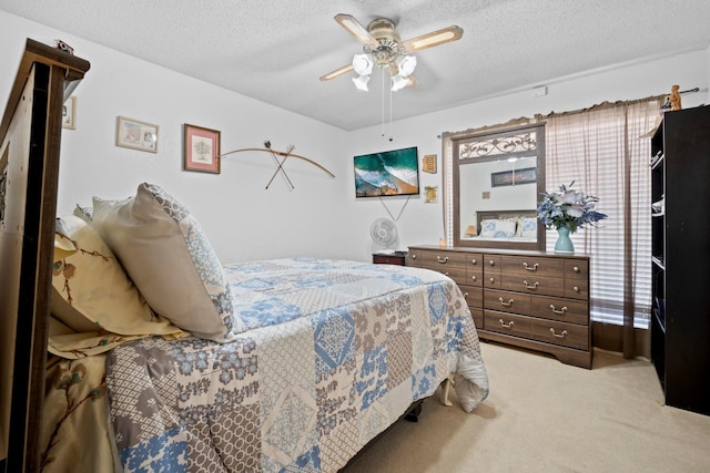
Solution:
[{"label": "white textured popcorn ceiling around the fan", "polygon": [[363,25],[388,18],[403,40],[464,29],[417,53],[418,85],[394,94],[395,120],[710,44],[708,0],[0,0],[0,9],[343,130],[381,123],[382,88],[376,74],[368,93],[352,73],[318,80],[362,51],[337,13]]}]

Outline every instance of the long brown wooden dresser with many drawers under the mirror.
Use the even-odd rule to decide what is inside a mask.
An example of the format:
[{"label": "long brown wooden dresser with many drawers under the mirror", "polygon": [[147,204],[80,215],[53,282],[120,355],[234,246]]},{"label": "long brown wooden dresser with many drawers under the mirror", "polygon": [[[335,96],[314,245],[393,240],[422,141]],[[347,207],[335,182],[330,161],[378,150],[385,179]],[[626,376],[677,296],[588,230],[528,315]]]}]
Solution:
[{"label": "long brown wooden dresser with many drawers under the mirror", "polygon": [[458,284],[481,339],[591,368],[588,256],[410,246],[408,263]]}]

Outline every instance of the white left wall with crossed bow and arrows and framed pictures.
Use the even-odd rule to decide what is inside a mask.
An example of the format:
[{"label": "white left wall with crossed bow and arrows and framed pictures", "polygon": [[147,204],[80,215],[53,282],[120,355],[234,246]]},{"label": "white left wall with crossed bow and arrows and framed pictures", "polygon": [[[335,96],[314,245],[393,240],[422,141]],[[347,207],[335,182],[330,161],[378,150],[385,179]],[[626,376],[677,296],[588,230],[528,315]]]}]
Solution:
[{"label": "white left wall with crossed bow and arrows and framed pictures", "polygon": [[[74,91],[77,130],[62,133],[59,213],[91,197],[124,198],[142,182],[161,185],[205,228],[227,261],[307,255],[343,257],[345,181],[351,178],[346,133],[323,123],[229,92],[0,11],[0,101],[10,93],[27,38],[61,38],[91,62]],[[4,106],[3,106],[4,109]],[[159,153],[118,147],[116,116],[158,124]],[[239,153],[223,160],[222,174],[182,171],[182,125],[219,130],[222,152],[295,145],[294,152],[335,174],[300,160],[284,166],[295,186],[277,176],[267,153]]]}]

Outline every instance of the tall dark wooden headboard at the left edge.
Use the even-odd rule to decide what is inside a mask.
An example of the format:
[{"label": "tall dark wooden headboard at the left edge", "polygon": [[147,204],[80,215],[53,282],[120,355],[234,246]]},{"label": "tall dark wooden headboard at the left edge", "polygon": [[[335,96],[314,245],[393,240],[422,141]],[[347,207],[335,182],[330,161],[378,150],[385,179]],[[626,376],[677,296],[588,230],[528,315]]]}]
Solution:
[{"label": "tall dark wooden headboard at the left edge", "polygon": [[88,70],[28,39],[0,122],[0,472],[40,469],[62,106]]}]

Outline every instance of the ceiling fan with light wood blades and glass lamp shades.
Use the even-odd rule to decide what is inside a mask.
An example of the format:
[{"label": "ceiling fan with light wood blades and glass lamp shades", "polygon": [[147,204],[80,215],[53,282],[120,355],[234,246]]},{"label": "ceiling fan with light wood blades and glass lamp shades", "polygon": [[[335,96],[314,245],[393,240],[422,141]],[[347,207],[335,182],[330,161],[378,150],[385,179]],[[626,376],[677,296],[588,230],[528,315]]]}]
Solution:
[{"label": "ceiling fan with light wood blades and glass lamp shades", "polygon": [[417,62],[412,53],[459,40],[464,34],[462,28],[448,27],[402,41],[395,29],[395,23],[386,18],[372,21],[367,28],[363,27],[354,17],[345,13],[336,14],[335,21],[363,44],[363,54],[355,54],[352,63],[321,76],[321,80],[329,81],[355,71],[358,76],[353,78],[353,82],[357,89],[364,91],[367,90],[367,81],[369,81],[374,66],[386,69],[389,72],[393,91],[416,85],[412,73]]}]

